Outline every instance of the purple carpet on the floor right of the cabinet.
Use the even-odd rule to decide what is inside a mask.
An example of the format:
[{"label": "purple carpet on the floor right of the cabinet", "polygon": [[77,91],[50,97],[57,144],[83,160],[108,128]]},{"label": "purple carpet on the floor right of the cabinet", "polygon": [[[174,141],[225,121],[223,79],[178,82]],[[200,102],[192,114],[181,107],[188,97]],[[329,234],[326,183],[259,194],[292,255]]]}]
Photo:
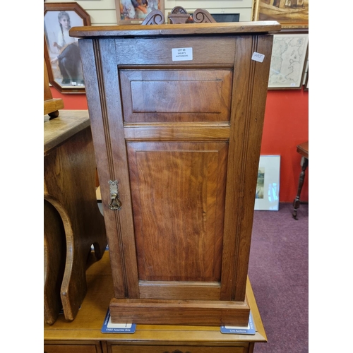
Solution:
[{"label": "purple carpet on the floor right of the cabinet", "polygon": [[249,279],[268,337],[254,353],[309,352],[309,205],[292,210],[254,213]]}]

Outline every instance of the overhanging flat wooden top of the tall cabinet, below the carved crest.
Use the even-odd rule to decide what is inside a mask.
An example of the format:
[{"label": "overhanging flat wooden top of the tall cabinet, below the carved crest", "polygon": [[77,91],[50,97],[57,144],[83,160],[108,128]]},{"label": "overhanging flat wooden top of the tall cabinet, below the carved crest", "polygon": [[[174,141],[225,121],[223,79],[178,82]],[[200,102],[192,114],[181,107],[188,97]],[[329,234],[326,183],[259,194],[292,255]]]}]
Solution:
[{"label": "overhanging flat wooden top of the tall cabinet, below the carved crest", "polygon": [[171,35],[230,35],[279,32],[276,21],[232,23],[188,23],[178,25],[111,25],[73,27],[71,37],[145,37]]}]

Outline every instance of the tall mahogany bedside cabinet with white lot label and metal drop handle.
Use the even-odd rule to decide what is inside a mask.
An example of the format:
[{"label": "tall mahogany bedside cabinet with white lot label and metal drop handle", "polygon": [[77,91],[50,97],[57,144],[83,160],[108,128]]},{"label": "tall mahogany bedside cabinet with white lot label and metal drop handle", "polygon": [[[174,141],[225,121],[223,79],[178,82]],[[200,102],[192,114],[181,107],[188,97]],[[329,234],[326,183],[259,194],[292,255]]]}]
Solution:
[{"label": "tall mahogany bedside cabinet with white lot label and metal drop handle", "polygon": [[102,193],[113,323],[248,324],[278,31],[266,21],[71,28]]}]

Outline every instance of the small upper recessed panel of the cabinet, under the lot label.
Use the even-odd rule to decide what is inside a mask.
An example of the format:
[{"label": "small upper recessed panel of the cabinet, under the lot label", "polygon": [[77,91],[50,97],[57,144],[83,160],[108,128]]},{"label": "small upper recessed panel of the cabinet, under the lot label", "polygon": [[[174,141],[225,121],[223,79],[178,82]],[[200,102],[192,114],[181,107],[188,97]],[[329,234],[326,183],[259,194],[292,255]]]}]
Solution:
[{"label": "small upper recessed panel of the cabinet, under the lot label", "polygon": [[232,70],[121,69],[124,121],[229,121]]}]

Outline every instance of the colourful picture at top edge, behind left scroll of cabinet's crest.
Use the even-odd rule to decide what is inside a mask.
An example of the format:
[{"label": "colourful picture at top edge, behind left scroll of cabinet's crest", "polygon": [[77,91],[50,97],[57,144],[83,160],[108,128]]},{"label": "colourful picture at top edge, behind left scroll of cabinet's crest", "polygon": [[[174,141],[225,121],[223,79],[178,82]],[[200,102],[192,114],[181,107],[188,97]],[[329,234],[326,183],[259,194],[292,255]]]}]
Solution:
[{"label": "colourful picture at top edge, behind left scroll of cabinet's crest", "polygon": [[153,10],[164,14],[164,0],[115,0],[118,25],[140,25]]}]

